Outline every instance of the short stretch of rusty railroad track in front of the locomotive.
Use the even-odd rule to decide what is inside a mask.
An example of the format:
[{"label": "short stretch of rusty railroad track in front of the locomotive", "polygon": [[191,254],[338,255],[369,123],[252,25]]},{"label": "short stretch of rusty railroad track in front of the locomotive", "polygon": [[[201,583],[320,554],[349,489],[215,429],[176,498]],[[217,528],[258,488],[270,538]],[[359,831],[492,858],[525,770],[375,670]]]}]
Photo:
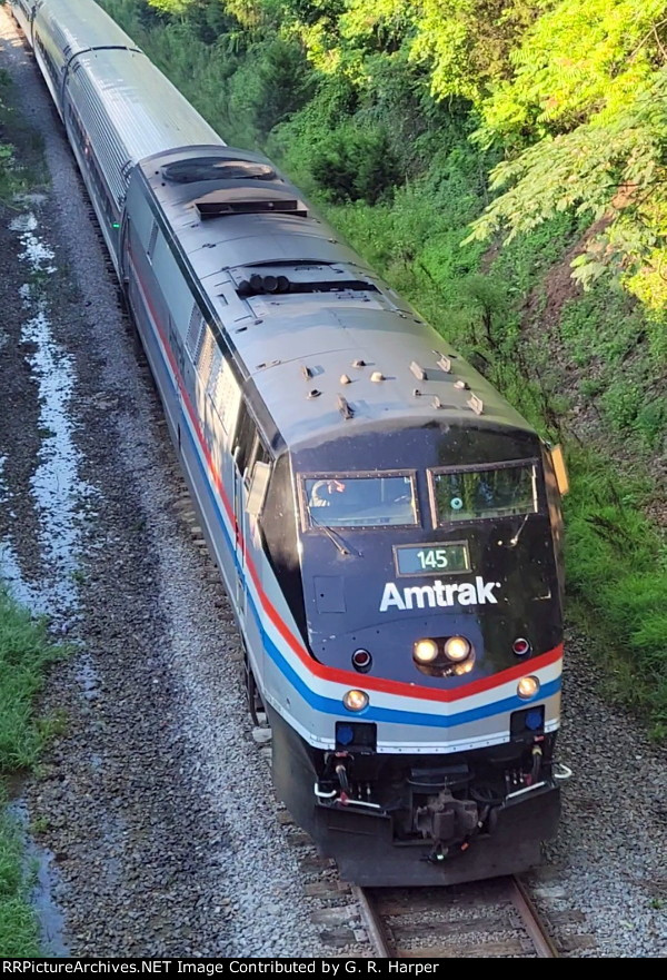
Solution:
[{"label": "short stretch of rusty railroad track in front of the locomotive", "polygon": [[377,956],[556,958],[518,878],[447,889],[354,889]]}]

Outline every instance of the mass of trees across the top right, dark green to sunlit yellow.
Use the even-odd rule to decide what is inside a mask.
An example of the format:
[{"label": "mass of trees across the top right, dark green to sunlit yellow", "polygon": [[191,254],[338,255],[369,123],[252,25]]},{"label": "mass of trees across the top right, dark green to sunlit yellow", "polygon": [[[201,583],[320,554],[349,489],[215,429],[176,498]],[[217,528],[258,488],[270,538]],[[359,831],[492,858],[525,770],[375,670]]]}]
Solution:
[{"label": "mass of trees across the top right, dark green to sunlit yellow", "polygon": [[[231,66],[217,72],[229,127],[243,119],[246,141],[285,141],[280,127],[307,106],[299,152],[332,199],[382,197],[465,115],[479,166],[491,165],[472,239],[511,240],[569,211],[594,226],[576,278],[611,274],[666,307],[667,0],[107,2],[143,22],[157,11],[216,49]],[[341,85],[354,95],[330,118]]]}]

